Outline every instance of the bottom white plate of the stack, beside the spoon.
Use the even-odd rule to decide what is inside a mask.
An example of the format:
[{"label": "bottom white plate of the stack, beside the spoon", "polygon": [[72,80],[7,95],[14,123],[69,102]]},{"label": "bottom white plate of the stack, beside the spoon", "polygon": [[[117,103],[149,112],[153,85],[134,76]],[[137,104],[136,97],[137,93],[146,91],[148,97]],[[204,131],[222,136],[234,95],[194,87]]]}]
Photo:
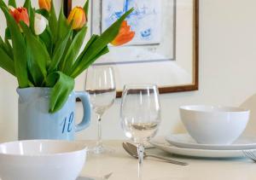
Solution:
[{"label": "bottom white plate of the stack, beside the spoon", "polygon": [[[185,155],[201,158],[230,159],[244,157],[241,150],[206,150],[196,148],[177,148],[164,140],[153,140],[150,142],[155,148],[159,148],[171,154]],[[253,149],[255,150],[255,149]]]}]

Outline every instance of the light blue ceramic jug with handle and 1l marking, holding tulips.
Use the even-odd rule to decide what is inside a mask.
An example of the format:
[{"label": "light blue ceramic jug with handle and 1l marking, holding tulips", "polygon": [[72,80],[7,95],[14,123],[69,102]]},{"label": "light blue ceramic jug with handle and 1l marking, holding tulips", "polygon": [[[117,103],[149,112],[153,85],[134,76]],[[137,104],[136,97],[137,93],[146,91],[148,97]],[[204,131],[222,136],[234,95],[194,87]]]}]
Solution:
[{"label": "light blue ceramic jug with handle and 1l marking, holding tulips", "polygon": [[[50,88],[17,89],[19,94],[18,138],[73,140],[77,131],[90,125],[90,99],[86,92],[73,91],[65,105],[56,113],[49,113]],[[84,117],[75,124],[76,98],[83,103]]]}]

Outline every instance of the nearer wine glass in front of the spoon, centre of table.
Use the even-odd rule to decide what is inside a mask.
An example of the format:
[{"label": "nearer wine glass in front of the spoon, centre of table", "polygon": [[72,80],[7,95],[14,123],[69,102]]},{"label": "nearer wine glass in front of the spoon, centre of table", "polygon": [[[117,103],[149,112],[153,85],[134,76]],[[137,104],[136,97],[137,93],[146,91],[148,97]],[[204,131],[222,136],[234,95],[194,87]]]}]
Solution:
[{"label": "nearer wine glass in front of the spoon, centre of table", "polygon": [[143,144],[157,132],[160,125],[160,100],[154,84],[125,85],[120,108],[125,136],[137,144],[138,176],[142,178]]}]

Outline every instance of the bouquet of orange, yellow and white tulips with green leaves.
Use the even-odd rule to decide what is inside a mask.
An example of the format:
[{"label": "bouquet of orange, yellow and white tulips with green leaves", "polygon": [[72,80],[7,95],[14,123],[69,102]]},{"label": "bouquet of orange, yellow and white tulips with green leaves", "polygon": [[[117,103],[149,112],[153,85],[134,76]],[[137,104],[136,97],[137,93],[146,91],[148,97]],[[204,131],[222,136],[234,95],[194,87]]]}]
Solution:
[{"label": "bouquet of orange, yellow and white tulips with green leaves", "polygon": [[125,18],[132,9],[116,20],[102,35],[92,35],[81,49],[87,32],[89,0],[74,8],[68,18],[61,8],[55,15],[51,0],[38,0],[33,9],[30,0],[17,8],[0,0],[7,28],[0,37],[0,67],[18,79],[20,88],[52,88],[49,113],[55,113],[67,101],[74,88],[74,78],[100,56],[108,53],[108,44],[125,44],[134,37]]}]

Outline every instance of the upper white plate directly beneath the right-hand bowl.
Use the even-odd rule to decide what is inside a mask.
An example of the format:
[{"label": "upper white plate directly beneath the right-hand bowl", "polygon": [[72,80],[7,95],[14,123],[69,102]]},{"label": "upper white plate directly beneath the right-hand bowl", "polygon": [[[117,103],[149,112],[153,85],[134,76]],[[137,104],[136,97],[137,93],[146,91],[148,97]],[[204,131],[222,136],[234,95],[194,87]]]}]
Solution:
[{"label": "upper white plate directly beneath the right-hand bowl", "polygon": [[172,134],[166,136],[166,141],[178,148],[198,148],[209,150],[244,150],[256,148],[255,136],[241,136],[230,145],[200,144],[189,136],[189,134]]}]

